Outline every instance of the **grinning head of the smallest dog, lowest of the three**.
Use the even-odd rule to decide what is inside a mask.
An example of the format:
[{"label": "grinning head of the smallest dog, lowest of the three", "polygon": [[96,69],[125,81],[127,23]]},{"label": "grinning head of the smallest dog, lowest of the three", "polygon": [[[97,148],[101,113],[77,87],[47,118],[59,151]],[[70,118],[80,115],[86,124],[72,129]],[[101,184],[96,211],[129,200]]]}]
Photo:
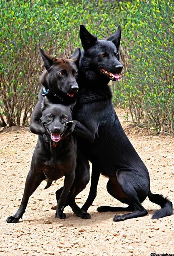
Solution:
[{"label": "grinning head of the smallest dog, lowest of the three", "polygon": [[49,139],[58,142],[68,126],[73,124],[72,109],[75,104],[76,102],[68,106],[51,104],[46,96],[43,98],[40,123]]}]

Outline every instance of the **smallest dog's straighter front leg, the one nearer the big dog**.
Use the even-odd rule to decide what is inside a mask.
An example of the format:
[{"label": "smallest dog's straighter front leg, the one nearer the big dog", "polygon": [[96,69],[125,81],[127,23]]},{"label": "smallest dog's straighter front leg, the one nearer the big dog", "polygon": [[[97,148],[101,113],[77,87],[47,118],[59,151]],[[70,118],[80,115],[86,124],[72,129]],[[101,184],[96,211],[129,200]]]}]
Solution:
[{"label": "smallest dog's straighter front leg, the one nearer the big dog", "polygon": [[70,192],[70,189],[73,185],[74,179],[75,179],[75,168],[73,169],[73,171],[70,174],[65,175],[64,187],[63,187],[61,196],[57,203],[57,210],[55,213],[55,218],[59,218],[59,219],[66,218],[66,214],[63,213],[64,206],[65,206],[68,194]]}]

